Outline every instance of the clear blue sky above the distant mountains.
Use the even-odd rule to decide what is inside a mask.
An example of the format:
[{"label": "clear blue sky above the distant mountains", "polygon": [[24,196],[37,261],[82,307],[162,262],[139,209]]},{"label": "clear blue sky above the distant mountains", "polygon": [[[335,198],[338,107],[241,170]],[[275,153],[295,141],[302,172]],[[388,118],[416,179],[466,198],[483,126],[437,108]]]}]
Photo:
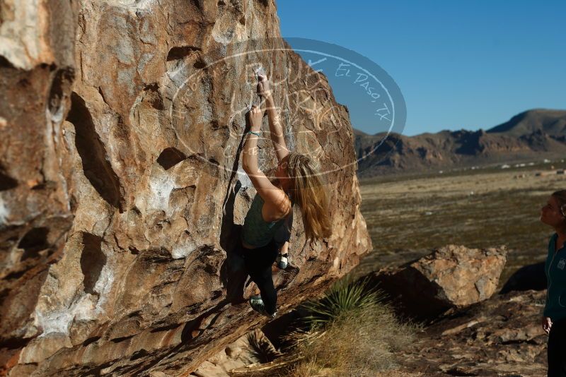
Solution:
[{"label": "clear blue sky above the distant mountains", "polygon": [[338,44],[381,66],[405,98],[408,136],[566,109],[566,0],[279,0],[277,13],[283,37]]}]

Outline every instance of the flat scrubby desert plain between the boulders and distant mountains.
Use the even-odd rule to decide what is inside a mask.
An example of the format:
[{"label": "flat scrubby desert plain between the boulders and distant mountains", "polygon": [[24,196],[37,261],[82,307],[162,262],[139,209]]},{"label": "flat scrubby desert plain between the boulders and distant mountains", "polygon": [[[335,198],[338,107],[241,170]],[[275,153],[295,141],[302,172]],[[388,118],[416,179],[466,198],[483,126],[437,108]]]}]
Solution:
[{"label": "flat scrubby desert plain between the boulders and distant mountains", "polygon": [[[545,260],[553,229],[539,220],[550,193],[566,188],[564,160],[361,180],[373,251],[352,270],[364,275],[420,258],[446,244],[506,245],[499,288],[523,265]],[[542,174],[541,174],[542,173]]]}]

